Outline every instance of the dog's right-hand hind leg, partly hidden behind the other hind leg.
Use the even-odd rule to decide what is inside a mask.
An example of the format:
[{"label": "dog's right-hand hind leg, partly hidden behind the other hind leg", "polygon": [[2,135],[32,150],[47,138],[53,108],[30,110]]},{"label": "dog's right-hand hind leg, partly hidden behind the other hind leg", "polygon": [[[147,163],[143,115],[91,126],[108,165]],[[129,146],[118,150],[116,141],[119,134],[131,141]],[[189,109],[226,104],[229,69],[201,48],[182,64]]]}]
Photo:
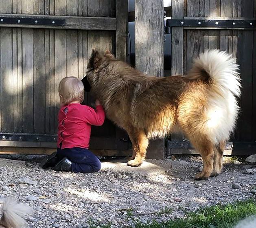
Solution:
[{"label": "dog's right-hand hind leg, partly hidden behind the other hind leg", "polygon": [[217,176],[221,173],[224,150],[225,150],[225,141],[221,141],[218,145],[215,145],[213,171],[211,176]]}]

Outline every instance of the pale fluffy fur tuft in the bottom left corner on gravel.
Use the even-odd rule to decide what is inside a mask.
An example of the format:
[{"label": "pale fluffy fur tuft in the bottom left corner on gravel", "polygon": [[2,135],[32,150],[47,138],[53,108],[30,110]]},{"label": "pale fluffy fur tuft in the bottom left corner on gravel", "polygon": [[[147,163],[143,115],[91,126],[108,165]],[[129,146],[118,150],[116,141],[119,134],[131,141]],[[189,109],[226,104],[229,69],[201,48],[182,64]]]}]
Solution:
[{"label": "pale fluffy fur tuft in the bottom left corner on gravel", "polygon": [[11,198],[4,200],[0,210],[2,213],[0,224],[7,228],[22,228],[25,225],[25,215],[32,212],[29,206],[19,204]]}]

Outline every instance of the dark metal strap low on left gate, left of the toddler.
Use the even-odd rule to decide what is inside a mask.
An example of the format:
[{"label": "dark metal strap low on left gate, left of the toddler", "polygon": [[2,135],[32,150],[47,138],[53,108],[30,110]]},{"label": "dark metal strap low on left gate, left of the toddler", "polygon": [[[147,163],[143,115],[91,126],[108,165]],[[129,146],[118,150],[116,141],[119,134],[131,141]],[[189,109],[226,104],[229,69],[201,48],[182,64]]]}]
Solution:
[{"label": "dark metal strap low on left gate, left of the toddler", "polygon": [[56,142],[57,135],[0,133],[0,141]]}]

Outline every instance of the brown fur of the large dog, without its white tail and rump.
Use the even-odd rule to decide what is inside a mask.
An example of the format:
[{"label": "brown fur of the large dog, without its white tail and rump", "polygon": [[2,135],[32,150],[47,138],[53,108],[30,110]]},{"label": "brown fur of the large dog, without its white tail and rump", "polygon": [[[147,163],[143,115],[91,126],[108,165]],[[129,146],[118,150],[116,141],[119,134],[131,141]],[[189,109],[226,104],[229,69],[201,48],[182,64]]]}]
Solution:
[{"label": "brown fur of the large dog, without its white tail and rump", "polygon": [[[215,143],[204,131],[211,85],[206,71],[194,80],[182,76],[149,77],[106,51],[93,50],[87,77],[94,96],[101,101],[107,117],[125,129],[133,144],[127,165],[138,167],[145,159],[149,139],[184,132],[203,158],[203,170],[196,179],[221,172],[225,139]],[[215,91],[214,91],[215,90]]]}]

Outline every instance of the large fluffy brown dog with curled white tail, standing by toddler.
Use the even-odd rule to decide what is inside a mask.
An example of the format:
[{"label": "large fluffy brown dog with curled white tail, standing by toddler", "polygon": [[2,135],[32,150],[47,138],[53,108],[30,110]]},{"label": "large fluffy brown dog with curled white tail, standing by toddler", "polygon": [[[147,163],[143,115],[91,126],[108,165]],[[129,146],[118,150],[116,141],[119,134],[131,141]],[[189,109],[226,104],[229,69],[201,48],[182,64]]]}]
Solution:
[{"label": "large fluffy brown dog with curled white tail, standing by toddler", "polygon": [[141,165],[149,139],[183,132],[202,156],[199,180],[221,173],[225,142],[238,115],[240,80],[235,59],[219,50],[200,54],[188,75],[163,78],[142,74],[108,50],[93,50],[83,83],[89,83],[107,117],[127,131],[133,144],[127,165]]}]

